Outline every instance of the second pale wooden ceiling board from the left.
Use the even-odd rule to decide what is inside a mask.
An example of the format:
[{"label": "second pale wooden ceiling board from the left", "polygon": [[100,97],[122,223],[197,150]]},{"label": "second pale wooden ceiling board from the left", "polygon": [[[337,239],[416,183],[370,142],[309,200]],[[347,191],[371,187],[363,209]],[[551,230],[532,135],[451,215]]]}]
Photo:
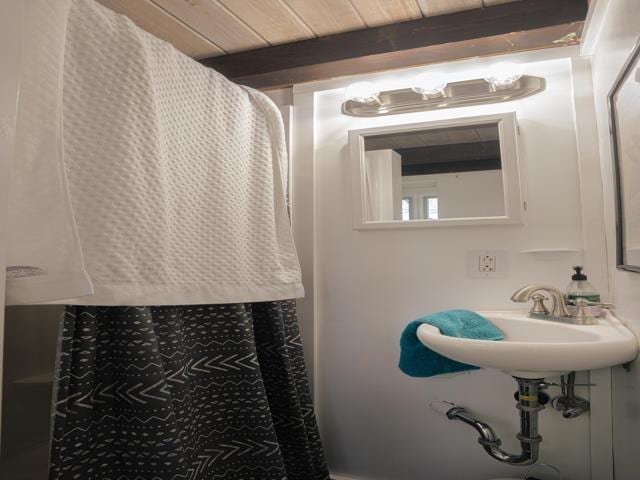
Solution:
[{"label": "second pale wooden ceiling board from the left", "polygon": [[[216,0],[152,0],[227,53],[269,43]],[[137,3],[128,2],[129,4]]]}]

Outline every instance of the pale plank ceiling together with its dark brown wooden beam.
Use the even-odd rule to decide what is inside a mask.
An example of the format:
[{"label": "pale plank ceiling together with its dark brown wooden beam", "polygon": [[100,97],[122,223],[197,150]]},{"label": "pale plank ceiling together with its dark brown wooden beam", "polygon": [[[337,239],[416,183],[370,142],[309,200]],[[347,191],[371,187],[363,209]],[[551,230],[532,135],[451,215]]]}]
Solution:
[{"label": "pale plank ceiling together with its dark brown wooden beam", "polygon": [[268,89],[580,41],[588,0],[98,0]]}]

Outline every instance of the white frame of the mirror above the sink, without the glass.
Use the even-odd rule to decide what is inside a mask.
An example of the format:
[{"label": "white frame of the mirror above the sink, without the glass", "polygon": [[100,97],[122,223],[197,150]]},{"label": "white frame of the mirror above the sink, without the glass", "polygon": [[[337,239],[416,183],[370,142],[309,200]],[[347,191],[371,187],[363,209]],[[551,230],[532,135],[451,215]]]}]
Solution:
[{"label": "white frame of the mirror above the sink, without the glass", "polygon": [[[413,130],[481,125],[487,123],[498,124],[500,157],[502,160],[502,183],[504,185],[505,215],[496,217],[441,218],[437,220],[366,220],[366,199],[364,195],[366,185],[364,137],[396,132],[409,132]],[[520,188],[517,136],[518,128],[516,123],[516,114],[514,112],[349,130],[353,228],[355,230],[370,230],[522,224],[524,209]]]}]

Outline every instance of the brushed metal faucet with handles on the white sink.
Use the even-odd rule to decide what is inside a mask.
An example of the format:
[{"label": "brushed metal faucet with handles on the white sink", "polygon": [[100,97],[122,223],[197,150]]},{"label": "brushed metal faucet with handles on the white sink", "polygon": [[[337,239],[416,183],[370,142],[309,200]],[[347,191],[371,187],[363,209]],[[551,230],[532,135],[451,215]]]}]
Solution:
[{"label": "brushed metal faucet with handles on the white sink", "polygon": [[[539,292],[546,292],[551,297],[553,300],[551,310],[544,303],[547,297]],[[591,314],[589,302],[584,299],[578,299],[575,312],[572,313],[567,309],[564,293],[554,287],[527,285],[511,295],[511,300],[518,303],[526,303],[529,300],[533,300],[533,306],[529,310],[529,316],[531,317],[560,320],[576,325],[596,325],[598,323],[598,319]]]}]

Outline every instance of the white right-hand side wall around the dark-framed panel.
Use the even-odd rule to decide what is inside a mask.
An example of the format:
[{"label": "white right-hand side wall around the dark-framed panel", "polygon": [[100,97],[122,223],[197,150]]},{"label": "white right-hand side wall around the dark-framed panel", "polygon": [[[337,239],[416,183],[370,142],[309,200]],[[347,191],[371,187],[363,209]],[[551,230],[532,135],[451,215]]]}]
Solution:
[{"label": "white right-hand side wall around the dark-framed panel", "polygon": [[[638,0],[597,0],[591,5],[585,54],[591,54],[604,187],[604,213],[612,300],[618,316],[640,335],[640,274],[615,268],[615,217],[607,95],[640,36]],[[636,185],[636,188],[640,186]],[[635,212],[640,215],[640,212]],[[617,480],[638,478],[640,368],[613,370],[613,440]]]}]

